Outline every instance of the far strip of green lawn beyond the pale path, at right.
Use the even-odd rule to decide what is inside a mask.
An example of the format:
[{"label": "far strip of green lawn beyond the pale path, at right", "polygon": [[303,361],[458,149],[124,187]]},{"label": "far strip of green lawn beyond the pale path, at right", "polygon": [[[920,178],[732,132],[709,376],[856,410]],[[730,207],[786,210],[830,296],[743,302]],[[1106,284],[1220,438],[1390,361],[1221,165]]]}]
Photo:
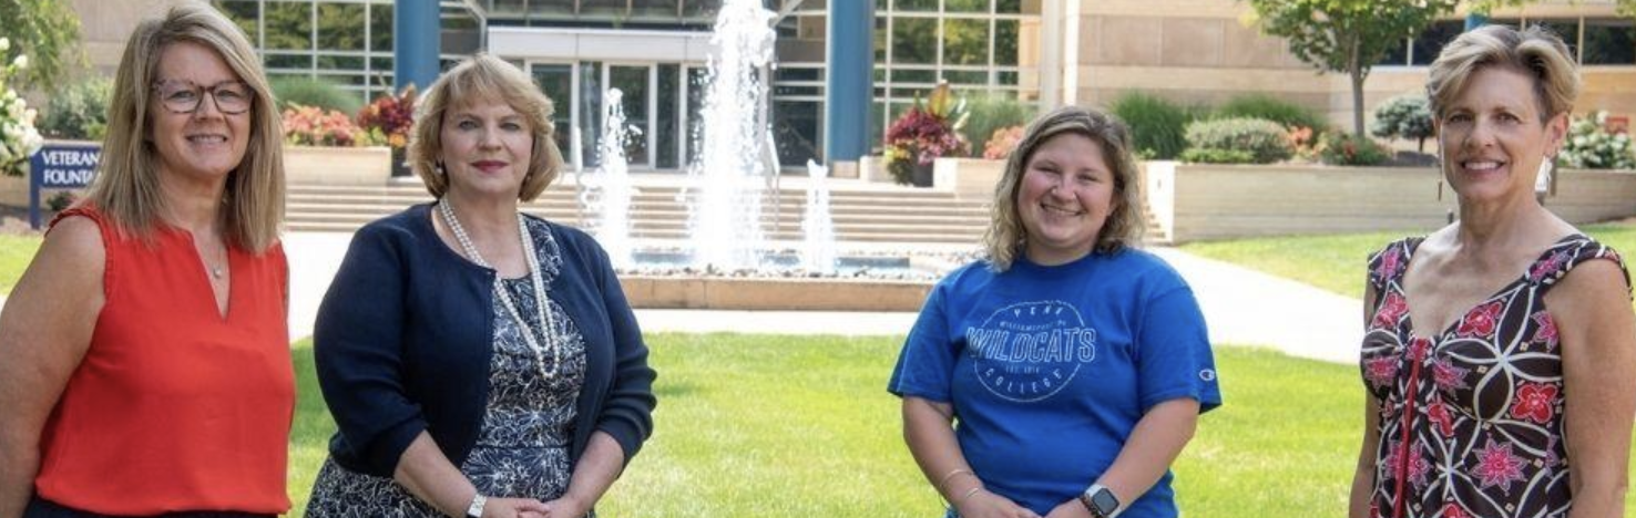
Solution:
[{"label": "far strip of green lawn beyond the pale path, at right", "polygon": [[[1597,224],[1580,229],[1626,255],[1636,253],[1636,226]],[[1427,230],[1402,230],[1258,237],[1186,243],[1181,250],[1361,299],[1369,253],[1392,240],[1425,234]]]}]

